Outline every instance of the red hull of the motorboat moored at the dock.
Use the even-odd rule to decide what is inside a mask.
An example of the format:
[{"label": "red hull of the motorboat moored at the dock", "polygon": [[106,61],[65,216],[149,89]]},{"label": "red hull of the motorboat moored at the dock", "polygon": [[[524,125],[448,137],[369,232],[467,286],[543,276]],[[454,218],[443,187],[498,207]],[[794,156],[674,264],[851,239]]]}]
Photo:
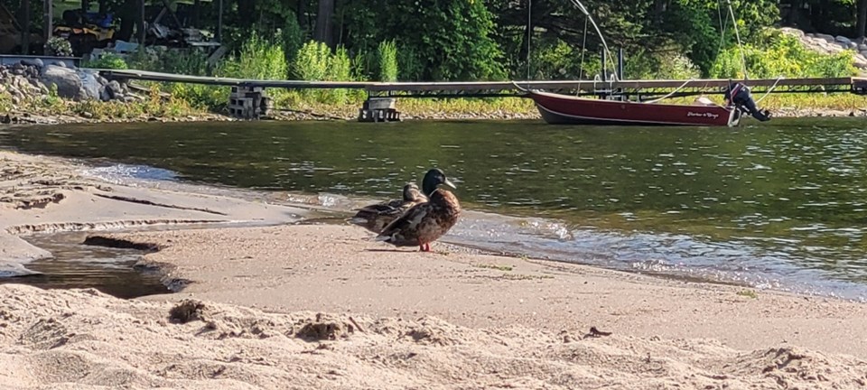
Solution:
[{"label": "red hull of the motorboat moored at the dock", "polygon": [[555,125],[732,126],[740,121],[733,107],[577,98],[533,91],[529,97],[545,122]]}]

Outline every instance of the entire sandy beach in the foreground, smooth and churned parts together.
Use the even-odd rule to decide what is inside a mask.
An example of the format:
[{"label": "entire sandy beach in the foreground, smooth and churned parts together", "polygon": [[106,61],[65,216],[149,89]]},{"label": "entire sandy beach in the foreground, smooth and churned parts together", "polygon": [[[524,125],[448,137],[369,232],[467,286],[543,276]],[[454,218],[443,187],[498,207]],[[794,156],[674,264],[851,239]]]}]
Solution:
[{"label": "entire sandy beach in the foreground, smooth and churned parts together", "polygon": [[[302,204],[84,168],[0,152],[0,271],[51,255],[20,237],[82,230],[152,244],[142,263],[182,290],[121,300],[0,285],[0,388],[867,386],[862,303],[395,249],[361,228],[299,224],[322,216]],[[170,229],[118,231],[142,226]]]}]

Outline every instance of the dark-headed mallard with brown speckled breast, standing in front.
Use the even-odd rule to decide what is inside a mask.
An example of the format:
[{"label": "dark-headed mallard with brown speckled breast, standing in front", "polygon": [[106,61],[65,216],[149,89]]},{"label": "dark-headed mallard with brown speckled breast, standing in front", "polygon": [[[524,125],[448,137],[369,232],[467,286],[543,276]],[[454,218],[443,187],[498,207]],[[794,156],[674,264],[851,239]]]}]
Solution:
[{"label": "dark-headed mallard with brown speckled breast, standing in front", "polygon": [[451,191],[441,185],[457,189],[452,181],[439,169],[432,169],[424,175],[422,189],[428,193],[429,200],[406,210],[404,215],[395,219],[379,233],[377,241],[393,246],[418,246],[422,252],[430,252],[431,243],[451,229],[461,215],[461,204]]}]

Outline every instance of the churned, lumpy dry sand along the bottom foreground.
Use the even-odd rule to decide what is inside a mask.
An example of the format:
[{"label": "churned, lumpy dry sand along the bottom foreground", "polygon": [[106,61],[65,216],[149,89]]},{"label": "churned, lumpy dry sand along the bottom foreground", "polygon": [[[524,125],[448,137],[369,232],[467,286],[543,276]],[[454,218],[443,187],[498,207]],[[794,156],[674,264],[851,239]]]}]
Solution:
[{"label": "churned, lumpy dry sand along the bottom foreground", "polygon": [[[741,352],[713,340],[592,337],[501,324],[275,314],[98,292],[0,286],[7,389],[859,388],[867,363],[788,346]],[[191,306],[195,307],[195,306]]]}]

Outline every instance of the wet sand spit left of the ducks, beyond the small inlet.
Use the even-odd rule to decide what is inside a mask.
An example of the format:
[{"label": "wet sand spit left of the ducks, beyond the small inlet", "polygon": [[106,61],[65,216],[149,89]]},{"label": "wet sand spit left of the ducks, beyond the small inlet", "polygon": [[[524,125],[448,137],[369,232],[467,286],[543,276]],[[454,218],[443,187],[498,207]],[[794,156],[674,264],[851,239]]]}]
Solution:
[{"label": "wet sand spit left of the ducks, beyond the small inlet", "polygon": [[[309,211],[197,193],[195,186],[124,185],[69,160],[0,151],[0,273],[51,254],[18,236],[191,224],[283,223]],[[165,187],[165,188],[162,188]]]}]

